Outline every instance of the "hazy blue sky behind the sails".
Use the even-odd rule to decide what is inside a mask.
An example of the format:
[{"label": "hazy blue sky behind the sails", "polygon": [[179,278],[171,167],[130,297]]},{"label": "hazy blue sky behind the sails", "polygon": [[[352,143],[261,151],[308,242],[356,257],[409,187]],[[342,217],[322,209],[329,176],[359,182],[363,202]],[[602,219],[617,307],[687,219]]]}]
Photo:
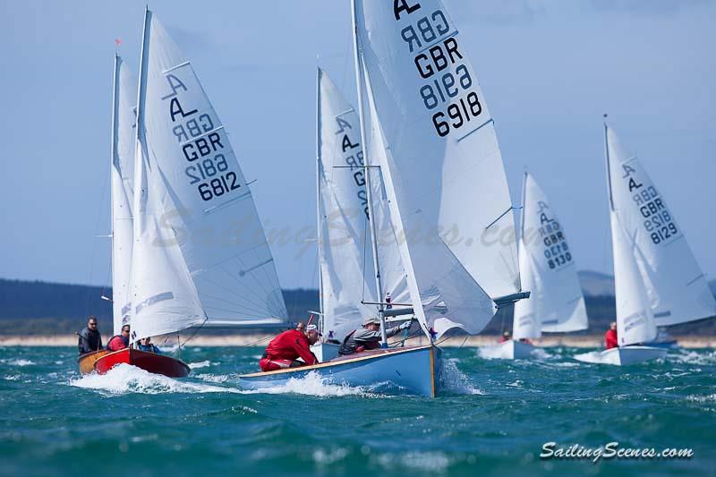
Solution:
[{"label": "hazy blue sky behind the sails", "polygon": [[[611,271],[601,114],[716,277],[716,3],[445,0],[495,118],[513,199],[525,167],[577,266]],[[198,6],[201,5],[201,6]],[[221,116],[268,234],[315,224],[315,67],[355,98],[348,0],[151,2]],[[144,3],[0,1],[0,277],[109,283],[115,38],[136,72]],[[318,57],[318,60],[317,60]],[[289,234],[290,236],[290,234]],[[284,287],[311,243],[272,245]]]}]

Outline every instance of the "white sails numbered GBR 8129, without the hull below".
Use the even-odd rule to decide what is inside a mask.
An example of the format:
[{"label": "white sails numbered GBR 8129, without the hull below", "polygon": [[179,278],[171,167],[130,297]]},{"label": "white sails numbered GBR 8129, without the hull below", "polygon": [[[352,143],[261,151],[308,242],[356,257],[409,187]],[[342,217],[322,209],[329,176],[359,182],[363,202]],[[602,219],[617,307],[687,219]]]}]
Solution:
[{"label": "white sails numbered GBR 8129, without the hull below", "polygon": [[[656,326],[716,315],[716,301],[666,200],[635,155],[625,149],[611,128],[606,124],[604,128],[618,303],[626,300],[626,294],[637,294],[638,287]],[[617,223],[620,227],[615,226]],[[618,260],[618,253],[633,258]],[[625,271],[630,267],[635,268],[634,272]],[[620,285],[625,280],[618,276],[625,273],[635,275],[633,287]],[[620,312],[617,314],[619,318]],[[654,336],[636,342],[649,341]]]}]

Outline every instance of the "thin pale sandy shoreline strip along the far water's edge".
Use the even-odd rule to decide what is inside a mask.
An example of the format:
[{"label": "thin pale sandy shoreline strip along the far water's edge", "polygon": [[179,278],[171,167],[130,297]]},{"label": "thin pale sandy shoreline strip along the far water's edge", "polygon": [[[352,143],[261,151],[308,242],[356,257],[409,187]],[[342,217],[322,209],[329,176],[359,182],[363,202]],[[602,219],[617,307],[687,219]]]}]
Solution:
[{"label": "thin pale sandy shoreline strip along the far water's edge", "polygon": [[[188,346],[265,346],[268,340],[274,335],[225,335],[225,336],[195,336]],[[105,342],[109,336],[103,336]],[[181,336],[181,343],[187,336]],[[465,339],[466,338],[466,339]],[[716,336],[674,336],[678,345],[688,349],[716,348]],[[170,345],[176,343],[176,337],[167,339],[156,338],[157,345]],[[427,345],[427,339],[418,337],[409,340],[410,345]],[[480,347],[497,345],[498,335],[484,336],[456,336],[441,342],[443,347]],[[77,336],[72,335],[48,335],[48,336],[0,336],[0,346],[76,346]],[[535,340],[534,345],[538,346],[569,346],[575,348],[596,348],[602,345],[602,336],[544,336]]]}]

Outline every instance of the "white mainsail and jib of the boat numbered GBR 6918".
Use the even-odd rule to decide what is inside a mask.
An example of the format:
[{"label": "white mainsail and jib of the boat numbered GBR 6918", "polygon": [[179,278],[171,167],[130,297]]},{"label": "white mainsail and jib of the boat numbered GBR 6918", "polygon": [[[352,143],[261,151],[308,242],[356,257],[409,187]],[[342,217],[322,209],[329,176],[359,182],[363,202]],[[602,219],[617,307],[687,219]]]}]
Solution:
[{"label": "white mainsail and jib of the boat numbered GBR 6918", "polygon": [[459,33],[437,0],[354,0],[354,29],[364,126],[384,142],[368,161],[383,173],[416,316],[439,334],[478,333],[490,296],[520,283],[502,158]]}]

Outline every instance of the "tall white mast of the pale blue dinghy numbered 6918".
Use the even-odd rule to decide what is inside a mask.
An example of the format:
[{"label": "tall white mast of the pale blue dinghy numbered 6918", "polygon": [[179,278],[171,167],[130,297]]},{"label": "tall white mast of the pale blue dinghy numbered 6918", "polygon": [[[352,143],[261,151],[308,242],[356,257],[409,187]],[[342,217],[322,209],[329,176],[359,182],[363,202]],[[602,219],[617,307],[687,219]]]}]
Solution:
[{"label": "tall white mast of the pale blue dinghy numbered 6918", "polygon": [[361,144],[362,144],[362,151],[363,151],[363,170],[365,171],[365,190],[366,190],[366,197],[368,199],[368,223],[369,226],[371,226],[371,245],[372,245],[372,252],[373,252],[373,268],[375,270],[375,289],[376,289],[376,301],[379,302],[378,305],[378,312],[380,317],[380,339],[382,340],[383,347],[388,347],[388,335],[386,334],[386,317],[383,314],[384,313],[384,295],[383,295],[383,284],[380,280],[380,267],[379,267],[379,260],[378,260],[378,240],[376,238],[376,230],[375,230],[375,217],[373,214],[373,200],[372,200],[372,187],[371,187],[371,165],[369,161],[369,154],[368,149],[366,148],[366,142],[365,142],[365,117],[363,112],[363,102],[362,102],[362,62],[360,59],[360,50],[358,45],[358,27],[356,25],[355,17],[356,17],[356,10],[355,10],[355,0],[351,0],[351,23],[353,26],[353,47],[354,47],[354,60],[355,60],[355,82],[356,82],[356,89],[358,90],[358,117],[360,118],[361,122]]}]

